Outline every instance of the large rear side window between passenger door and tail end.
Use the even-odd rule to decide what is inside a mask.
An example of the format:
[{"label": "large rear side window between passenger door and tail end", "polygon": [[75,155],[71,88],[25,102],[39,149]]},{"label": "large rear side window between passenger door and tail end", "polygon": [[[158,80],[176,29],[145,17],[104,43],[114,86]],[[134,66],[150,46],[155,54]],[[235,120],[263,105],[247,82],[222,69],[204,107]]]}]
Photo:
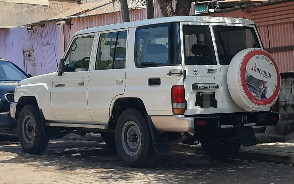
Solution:
[{"label": "large rear side window between passenger door and tail end", "polygon": [[136,67],[181,64],[178,23],[138,27],[135,39]]}]

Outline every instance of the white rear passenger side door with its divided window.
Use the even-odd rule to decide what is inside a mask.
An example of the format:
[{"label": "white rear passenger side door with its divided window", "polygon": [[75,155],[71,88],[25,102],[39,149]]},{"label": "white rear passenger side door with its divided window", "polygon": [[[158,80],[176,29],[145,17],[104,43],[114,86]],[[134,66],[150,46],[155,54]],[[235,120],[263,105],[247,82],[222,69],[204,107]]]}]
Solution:
[{"label": "white rear passenger side door with its divided window", "polygon": [[107,124],[114,97],[126,87],[128,29],[99,32],[94,70],[89,74],[88,107],[96,124]]}]

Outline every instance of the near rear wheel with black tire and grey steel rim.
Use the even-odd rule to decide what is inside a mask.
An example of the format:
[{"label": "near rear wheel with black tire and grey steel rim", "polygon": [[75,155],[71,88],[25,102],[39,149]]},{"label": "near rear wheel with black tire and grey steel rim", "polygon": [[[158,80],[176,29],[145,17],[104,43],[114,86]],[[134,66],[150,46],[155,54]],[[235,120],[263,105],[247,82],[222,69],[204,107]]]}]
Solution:
[{"label": "near rear wheel with black tire and grey steel rim", "polygon": [[141,112],[126,109],[121,113],[116,124],[115,140],[117,152],[127,166],[142,168],[149,165],[154,147],[147,118]]}]

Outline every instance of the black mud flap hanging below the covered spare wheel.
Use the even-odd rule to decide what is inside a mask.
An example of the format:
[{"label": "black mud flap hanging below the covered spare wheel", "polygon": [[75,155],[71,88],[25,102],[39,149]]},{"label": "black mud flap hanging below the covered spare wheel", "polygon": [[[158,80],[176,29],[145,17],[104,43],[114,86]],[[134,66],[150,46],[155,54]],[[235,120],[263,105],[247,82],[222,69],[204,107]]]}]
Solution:
[{"label": "black mud flap hanging below the covered spare wheel", "polygon": [[235,129],[244,147],[257,144],[252,126],[235,127]]}]

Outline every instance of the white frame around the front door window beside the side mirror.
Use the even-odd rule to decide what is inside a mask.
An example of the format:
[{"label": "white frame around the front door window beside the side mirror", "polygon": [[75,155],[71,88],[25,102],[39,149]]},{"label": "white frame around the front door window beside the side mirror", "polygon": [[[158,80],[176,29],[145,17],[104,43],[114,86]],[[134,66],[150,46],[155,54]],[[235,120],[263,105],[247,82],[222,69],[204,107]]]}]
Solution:
[{"label": "white frame around the front door window beside the side mirror", "polygon": [[[81,35],[76,35],[74,36],[71,41],[69,42],[66,50],[64,51],[64,54],[62,56],[64,62],[65,62],[65,58],[67,57],[67,55],[69,54],[70,52],[70,48],[71,46],[73,45],[74,43],[74,40],[76,40],[77,38],[83,38],[83,37],[88,37],[88,36],[94,36],[93,38],[93,43],[92,43],[92,48],[91,48],[91,53],[90,53],[90,61],[89,61],[89,66],[88,66],[88,70],[81,70],[81,71],[68,71],[68,72],[87,72],[87,71],[90,71],[91,69],[91,61],[93,59],[93,48],[94,48],[94,45],[95,45],[95,40],[96,40],[96,33],[87,33],[87,34],[81,34]],[[56,72],[59,72],[59,64],[58,64],[58,67],[57,67],[57,70]],[[64,73],[67,73],[67,72],[64,72]]]}]

